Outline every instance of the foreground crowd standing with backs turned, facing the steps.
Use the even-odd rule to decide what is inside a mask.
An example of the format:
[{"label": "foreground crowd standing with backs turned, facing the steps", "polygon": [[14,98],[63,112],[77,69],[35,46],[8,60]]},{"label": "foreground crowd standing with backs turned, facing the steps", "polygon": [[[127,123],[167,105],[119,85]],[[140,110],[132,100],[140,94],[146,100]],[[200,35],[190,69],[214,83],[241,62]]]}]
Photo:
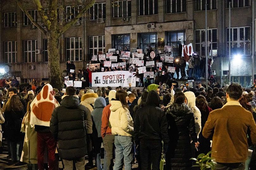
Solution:
[{"label": "foreground crowd standing with backs turned, facing the steps", "polygon": [[190,158],[211,150],[216,169],[255,169],[248,157],[256,144],[255,93],[236,83],[213,89],[150,84],[142,91],[59,91],[43,83],[0,88],[1,132],[10,164],[33,170],[58,169],[59,160],[71,170],[129,170],[135,162],[157,170],[162,154],[166,170],[191,169]]}]

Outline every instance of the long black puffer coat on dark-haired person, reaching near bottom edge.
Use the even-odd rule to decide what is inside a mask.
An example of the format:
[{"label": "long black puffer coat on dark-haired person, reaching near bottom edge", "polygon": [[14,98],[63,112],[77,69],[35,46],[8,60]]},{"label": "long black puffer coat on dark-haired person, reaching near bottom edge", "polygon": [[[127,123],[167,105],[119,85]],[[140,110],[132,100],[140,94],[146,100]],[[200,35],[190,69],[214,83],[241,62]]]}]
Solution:
[{"label": "long black puffer coat on dark-haired person, reaching near bottom edge", "polygon": [[166,117],[170,138],[166,164],[172,169],[189,169],[192,166],[189,135],[197,142],[194,114],[186,104],[174,103],[168,108]]}]

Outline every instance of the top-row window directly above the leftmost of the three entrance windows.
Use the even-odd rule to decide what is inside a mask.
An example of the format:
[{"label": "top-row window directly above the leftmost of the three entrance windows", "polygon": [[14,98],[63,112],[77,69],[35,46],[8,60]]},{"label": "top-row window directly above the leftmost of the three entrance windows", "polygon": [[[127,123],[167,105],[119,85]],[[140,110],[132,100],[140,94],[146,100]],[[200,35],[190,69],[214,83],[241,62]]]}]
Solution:
[{"label": "top-row window directly above the leftmost of the three entrance windows", "polygon": [[131,0],[114,2],[113,17],[122,18],[131,16]]}]

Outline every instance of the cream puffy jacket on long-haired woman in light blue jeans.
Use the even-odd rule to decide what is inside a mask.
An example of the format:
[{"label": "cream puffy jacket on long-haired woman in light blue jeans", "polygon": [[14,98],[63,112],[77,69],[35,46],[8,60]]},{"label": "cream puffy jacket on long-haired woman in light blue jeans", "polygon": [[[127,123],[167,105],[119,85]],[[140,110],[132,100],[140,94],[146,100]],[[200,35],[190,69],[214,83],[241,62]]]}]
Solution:
[{"label": "cream puffy jacket on long-haired woman in light blue jeans", "polygon": [[124,109],[122,103],[117,100],[111,101],[111,114],[109,122],[113,135],[132,136],[133,120],[128,109]]}]

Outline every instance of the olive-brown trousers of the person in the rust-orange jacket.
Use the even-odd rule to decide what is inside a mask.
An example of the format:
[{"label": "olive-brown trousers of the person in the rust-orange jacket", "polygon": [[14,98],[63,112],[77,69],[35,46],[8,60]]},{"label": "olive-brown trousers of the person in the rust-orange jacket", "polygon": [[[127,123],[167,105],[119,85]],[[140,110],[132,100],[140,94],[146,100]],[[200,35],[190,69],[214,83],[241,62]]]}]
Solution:
[{"label": "olive-brown trousers of the person in the rust-orange jacket", "polygon": [[[104,155],[104,170],[112,170],[113,169],[113,159],[114,159],[114,151],[115,151],[115,136],[114,135],[106,135],[103,138],[103,145],[106,151],[106,158]],[[105,164],[106,159],[106,164]]]}]

